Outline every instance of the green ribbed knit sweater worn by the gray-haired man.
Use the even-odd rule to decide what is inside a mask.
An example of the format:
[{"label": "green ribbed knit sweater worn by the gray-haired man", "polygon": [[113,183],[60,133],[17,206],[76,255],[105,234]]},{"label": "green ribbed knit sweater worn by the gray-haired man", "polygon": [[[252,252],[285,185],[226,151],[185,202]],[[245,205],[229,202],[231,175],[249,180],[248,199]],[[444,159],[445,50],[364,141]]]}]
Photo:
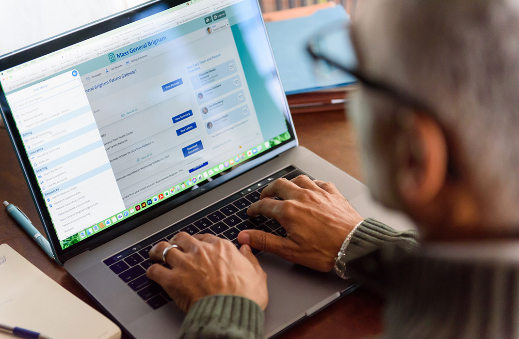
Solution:
[{"label": "green ribbed knit sweater worn by the gray-haired man", "polygon": [[[498,256],[503,244],[460,246],[419,248],[414,231],[360,225],[348,274],[386,295],[385,338],[519,338],[519,243]],[[261,338],[263,319],[251,300],[208,296],[190,308],[180,337]]]}]

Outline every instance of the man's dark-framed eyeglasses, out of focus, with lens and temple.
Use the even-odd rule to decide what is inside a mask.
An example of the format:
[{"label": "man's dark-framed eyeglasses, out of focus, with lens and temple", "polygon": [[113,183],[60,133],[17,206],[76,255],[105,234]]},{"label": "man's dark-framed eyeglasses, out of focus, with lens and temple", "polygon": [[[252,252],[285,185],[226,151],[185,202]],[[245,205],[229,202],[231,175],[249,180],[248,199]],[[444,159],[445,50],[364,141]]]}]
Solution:
[{"label": "man's dark-framed eyeglasses, out of focus, with lens and temple", "polygon": [[349,21],[331,24],[319,30],[309,39],[307,51],[316,65],[320,61],[324,62],[329,67],[353,76],[363,86],[388,95],[401,104],[432,112],[429,105],[414,95],[386,81],[367,75],[358,68],[357,56],[350,43],[350,24]]}]

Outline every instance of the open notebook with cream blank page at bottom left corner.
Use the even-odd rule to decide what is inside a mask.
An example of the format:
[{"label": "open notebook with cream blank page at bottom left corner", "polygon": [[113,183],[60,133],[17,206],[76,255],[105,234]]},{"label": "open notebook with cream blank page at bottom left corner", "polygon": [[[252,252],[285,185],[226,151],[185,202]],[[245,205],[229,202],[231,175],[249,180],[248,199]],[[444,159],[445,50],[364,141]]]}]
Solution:
[{"label": "open notebook with cream blank page at bottom left corner", "polygon": [[[0,323],[51,339],[118,339],[121,330],[38,270],[9,245],[0,245]],[[13,338],[0,333],[0,339]]]}]

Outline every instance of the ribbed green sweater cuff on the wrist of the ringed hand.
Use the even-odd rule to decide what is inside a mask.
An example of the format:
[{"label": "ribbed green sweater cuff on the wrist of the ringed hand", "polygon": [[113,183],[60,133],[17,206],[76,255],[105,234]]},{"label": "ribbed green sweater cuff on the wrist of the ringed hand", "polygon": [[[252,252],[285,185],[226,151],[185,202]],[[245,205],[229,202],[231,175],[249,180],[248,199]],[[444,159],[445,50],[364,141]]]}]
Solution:
[{"label": "ribbed green sweater cuff on the wrist of the ringed hand", "polygon": [[182,324],[181,339],[262,338],[263,310],[236,295],[211,295],[198,300]]}]

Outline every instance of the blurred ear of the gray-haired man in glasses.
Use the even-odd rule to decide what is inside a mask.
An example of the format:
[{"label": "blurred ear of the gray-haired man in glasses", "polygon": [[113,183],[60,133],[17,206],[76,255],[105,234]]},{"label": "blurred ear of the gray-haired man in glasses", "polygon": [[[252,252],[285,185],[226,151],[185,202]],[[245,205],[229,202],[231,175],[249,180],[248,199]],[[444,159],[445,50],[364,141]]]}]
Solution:
[{"label": "blurred ear of the gray-haired man in glasses", "polygon": [[445,186],[448,148],[438,122],[422,112],[403,109],[398,112],[396,184],[402,201],[419,208],[432,202]]}]

